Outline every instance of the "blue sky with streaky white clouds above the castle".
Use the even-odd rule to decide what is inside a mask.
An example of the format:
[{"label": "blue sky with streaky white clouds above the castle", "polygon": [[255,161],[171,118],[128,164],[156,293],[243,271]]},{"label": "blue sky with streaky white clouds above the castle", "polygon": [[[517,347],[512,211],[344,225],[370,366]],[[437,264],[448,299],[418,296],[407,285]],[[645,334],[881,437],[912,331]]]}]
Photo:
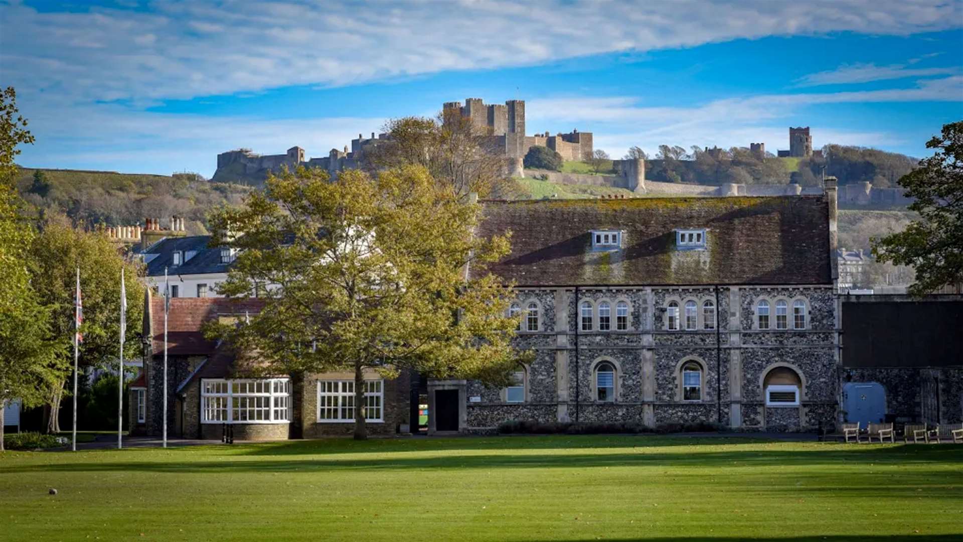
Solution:
[{"label": "blue sky with streaky white clouds above the castle", "polygon": [[963,121],[963,0],[0,0],[0,85],[26,167],[212,176],[217,154],[308,156],[446,101],[526,100],[596,149],[931,154]]}]

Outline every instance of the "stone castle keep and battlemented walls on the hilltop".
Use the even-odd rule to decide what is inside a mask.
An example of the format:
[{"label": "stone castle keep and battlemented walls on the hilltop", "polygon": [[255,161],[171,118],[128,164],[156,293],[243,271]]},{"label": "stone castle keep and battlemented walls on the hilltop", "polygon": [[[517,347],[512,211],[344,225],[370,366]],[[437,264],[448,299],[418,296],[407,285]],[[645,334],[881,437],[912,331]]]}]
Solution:
[{"label": "stone castle keep and battlemented walls on the hilltop", "polygon": [[[477,133],[488,138],[487,149],[508,158],[508,173],[522,176],[522,158],[529,149],[539,146],[558,152],[564,160],[582,160],[592,153],[592,134],[572,130],[569,133],[549,132],[531,136],[525,134],[525,101],[510,99],[501,104],[485,104],[481,98],[470,97],[465,105],[459,101],[446,102],[442,106],[443,122],[455,122],[457,117],[467,119]],[[294,169],[298,166],[320,168],[329,175],[359,168],[367,149],[384,143],[388,134],[374,132],[365,139],[358,134],[351,140],[351,149],[331,149],[327,156],[305,159],[304,149],[292,147],[284,154],[257,154],[250,149],[234,149],[218,154],[218,169],[212,180],[237,182],[262,182],[269,172],[277,172],[282,167]]]}]

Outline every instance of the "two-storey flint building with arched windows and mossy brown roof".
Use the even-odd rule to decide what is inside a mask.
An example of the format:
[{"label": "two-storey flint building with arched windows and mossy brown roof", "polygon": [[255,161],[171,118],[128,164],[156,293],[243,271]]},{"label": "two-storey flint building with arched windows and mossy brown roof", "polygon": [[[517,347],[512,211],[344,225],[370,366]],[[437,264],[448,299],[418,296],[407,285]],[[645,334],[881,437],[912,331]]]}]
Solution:
[{"label": "two-storey flint building with arched windows and mossy brown roof", "polygon": [[[429,381],[429,432],[505,420],[814,429],[837,418],[836,187],[824,195],[489,202],[512,232],[516,386]],[[551,225],[546,227],[546,225]],[[455,416],[456,409],[456,416]]]}]

